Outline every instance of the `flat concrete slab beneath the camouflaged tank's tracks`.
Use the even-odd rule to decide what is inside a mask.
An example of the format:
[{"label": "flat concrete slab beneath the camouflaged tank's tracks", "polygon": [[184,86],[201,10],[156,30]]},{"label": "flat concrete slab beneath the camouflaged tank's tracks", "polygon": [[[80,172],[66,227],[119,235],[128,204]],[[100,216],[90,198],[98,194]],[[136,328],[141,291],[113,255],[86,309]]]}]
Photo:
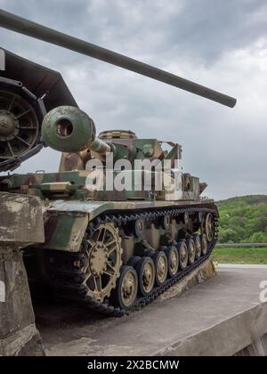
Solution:
[{"label": "flat concrete slab beneath the camouflaged tank's tracks", "polygon": [[[193,278],[203,279],[203,270],[199,274]],[[182,296],[181,284],[174,286],[121,319],[56,302],[36,305],[36,318],[49,355],[266,355],[263,280],[267,266],[219,267],[191,289],[192,279],[182,280]]]}]

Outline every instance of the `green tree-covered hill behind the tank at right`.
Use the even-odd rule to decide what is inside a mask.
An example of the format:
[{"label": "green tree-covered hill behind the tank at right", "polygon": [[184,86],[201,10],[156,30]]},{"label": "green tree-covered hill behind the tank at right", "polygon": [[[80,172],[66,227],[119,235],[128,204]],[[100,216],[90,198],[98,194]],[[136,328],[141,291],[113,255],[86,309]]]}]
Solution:
[{"label": "green tree-covered hill behind the tank at right", "polygon": [[267,243],[267,195],[217,201],[220,212],[219,242]]}]

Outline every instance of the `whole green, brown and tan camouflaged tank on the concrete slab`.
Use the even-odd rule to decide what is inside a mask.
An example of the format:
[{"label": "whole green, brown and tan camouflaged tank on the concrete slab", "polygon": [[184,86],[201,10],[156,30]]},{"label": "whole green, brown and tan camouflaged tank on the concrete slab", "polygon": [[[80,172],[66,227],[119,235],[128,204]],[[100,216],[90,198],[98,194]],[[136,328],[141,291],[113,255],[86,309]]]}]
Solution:
[{"label": "whole green, brown and tan camouflaged tank on the concrete slab", "polygon": [[48,112],[42,135],[62,151],[59,173],[2,181],[9,191],[44,201],[44,245],[25,257],[31,279],[40,280],[37,269],[57,297],[122,314],[148,304],[208,258],[217,208],[201,199],[206,183],[174,168],[179,144],[166,152],[163,142],[125,130],[96,137],[93,120],[72,106]]}]

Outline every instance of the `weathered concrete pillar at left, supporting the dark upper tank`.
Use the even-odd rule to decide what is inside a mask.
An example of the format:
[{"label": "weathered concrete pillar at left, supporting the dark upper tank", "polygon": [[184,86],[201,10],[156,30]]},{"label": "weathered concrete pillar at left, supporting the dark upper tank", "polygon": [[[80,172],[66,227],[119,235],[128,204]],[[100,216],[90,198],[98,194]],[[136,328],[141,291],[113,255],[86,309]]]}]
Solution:
[{"label": "weathered concrete pillar at left, supporting the dark upper tank", "polygon": [[39,199],[0,193],[0,355],[44,355],[21,248],[44,241]]}]

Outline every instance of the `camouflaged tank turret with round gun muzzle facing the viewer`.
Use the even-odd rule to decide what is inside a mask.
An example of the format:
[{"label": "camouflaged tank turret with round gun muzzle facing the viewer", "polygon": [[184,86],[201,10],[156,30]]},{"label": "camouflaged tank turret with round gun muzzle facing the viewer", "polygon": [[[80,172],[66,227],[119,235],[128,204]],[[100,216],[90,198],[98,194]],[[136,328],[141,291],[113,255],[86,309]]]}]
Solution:
[{"label": "camouflaged tank turret with round gun muzzle facing the viewer", "polygon": [[[134,167],[134,160],[158,161],[181,159],[182,147],[168,142],[170,151],[163,150],[157,139],[139,139],[132,131],[109,130],[96,137],[93,119],[82,110],[71,106],[55,108],[44,116],[42,136],[46,146],[62,152],[60,171],[85,170],[92,159],[102,161],[112,153],[112,163],[127,159]],[[113,166],[113,165],[112,165]]]}]

